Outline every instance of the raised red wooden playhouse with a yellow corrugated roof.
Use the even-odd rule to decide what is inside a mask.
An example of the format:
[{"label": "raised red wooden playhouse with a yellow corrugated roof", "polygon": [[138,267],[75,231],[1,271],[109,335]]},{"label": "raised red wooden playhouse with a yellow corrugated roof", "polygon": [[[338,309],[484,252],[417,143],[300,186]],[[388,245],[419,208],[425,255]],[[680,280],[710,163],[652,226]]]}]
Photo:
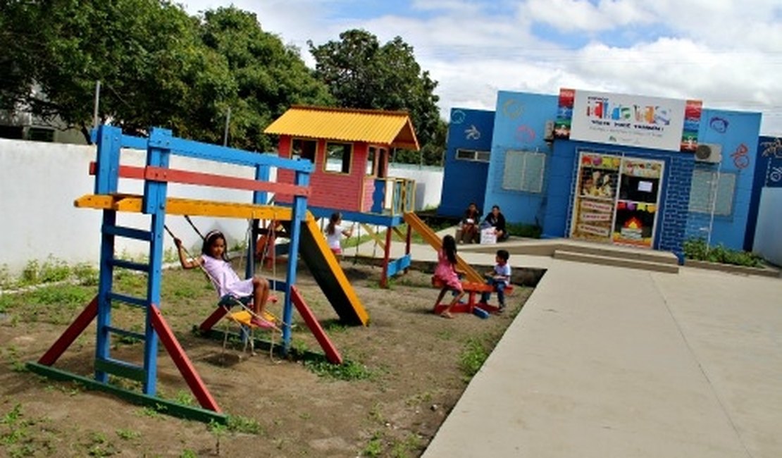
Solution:
[{"label": "raised red wooden playhouse with a yellow corrugated roof", "polygon": [[[311,213],[328,219],[339,211],[345,220],[357,222],[365,234],[375,238],[383,250],[381,285],[410,265],[410,233],[405,236],[398,227],[414,209],[415,181],[388,176],[393,148],[418,151],[418,139],[407,113],[292,106],[264,132],[279,136],[281,158],[312,163],[308,200]],[[287,170],[278,170],[278,181],[300,184]],[[286,204],[291,196],[278,193],[275,199]],[[379,227],[386,228],[385,240],[378,234]],[[392,260],[393,231],[406,241],[406,249],[404,256]]]}]

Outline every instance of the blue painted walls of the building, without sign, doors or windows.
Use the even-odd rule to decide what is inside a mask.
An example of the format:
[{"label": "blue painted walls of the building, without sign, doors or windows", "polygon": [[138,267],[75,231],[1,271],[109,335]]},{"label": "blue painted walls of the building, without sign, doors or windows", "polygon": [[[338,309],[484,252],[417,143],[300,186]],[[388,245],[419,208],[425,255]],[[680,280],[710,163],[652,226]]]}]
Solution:
[{"label": "blue painted walls of the building, without sign, doors or windows", "polygon": [[[665,172],[660,189],[657,227],[655,227],[655,249],[676,253],[683,259],[683,242],[694,234],[701,234],[706,216],[691,213],[690,193],[694,170],[716,170],[736,174],[734,202],[729,216],[716,216],[711,224],[711,242],[728,248],[742,249],[748,237],[748,227],[754,233],[757,202],[752,200],[755,166],[769,169],[770,158],[758,156],[758,135],[760,113],[731,112],[704,109],[698,131],[700,143],[722,146],[722,161],[719,164],[698,163],[694,155],[685,152],[667,152],[647,148],[630,148],[617,145],[587,143],[582,141],[544,139],[546,122],[554,120],[558,109],[558,96],[536,95],[510,91],[497,93],[495,112],[454,109],[448,138],[448,150],[443,183],[442,214],[461,215],[470,201],[479,202],[484,213],[493,205],[499,205],[508,223],[540,224],[543,237],[556,238],[569,235],[572,212],[573,184],[578,170],[579,150],[588,150],[617,156],[631,156],[641,159],[661,160]],[[454,123],[454,113],[457,123]],[[493,117],[493,120],[489,118]],[[486,135],[482,129],[492,125],[493,132]],[[468,139],[468,132],[475,126],[480,138]],[[474,134],[473,134],[474,137]],[[484,181],[481,181],[480,166],[484,164],[456,161],[457,148],[482,149],[483,141],[490,141],[491,158]],[[766,141],[776,141],[767,138]],[[508,150],[535,151],[547,155],[540,193],[508,191],[502,188],[505,172],[505,153]],[[770,155],[778,155],[782,167],[782,147]],[[774,156],[777,160],[777,156]],[[776,166],[776,165],[774,165]],[[769,169],[770,170],[770,169]],[[782,172],[782,169],[780,169]],[[758,172],[759,174],[760,172]],[[760,175],[758,175],[760,176]],[[766,174],[763,175],[764,179]],[[476,188],[485,186],[484,198],[475,198]],[[782,186],[782,178],[780,178]],[[759,194],[759,189],[756,190]],[[754,204],[752,203],[754,202]],[[755,213],[751,213],[752,205]],[[710,215],[708,215],[710,220]],[[708,226],[708,224],[706,224]],[[694,229],[697,228],[697,229]]]}]

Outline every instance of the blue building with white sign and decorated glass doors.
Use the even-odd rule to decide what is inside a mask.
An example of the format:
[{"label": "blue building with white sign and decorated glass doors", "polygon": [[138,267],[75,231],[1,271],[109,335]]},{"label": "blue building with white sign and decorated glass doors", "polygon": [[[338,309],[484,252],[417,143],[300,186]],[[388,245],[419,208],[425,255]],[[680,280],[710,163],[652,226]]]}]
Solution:
[{"label": "blue building with white sign and decorated glass doors", "polygon": [[[486,112],[453,113],[490,125]],[[662,249],[680,259],[688,238],[742,249],[760,118],[699,101],[500,91],[482,189],[456,156],[469,145],[464,120],[452,122],[439,213],[461,213],[465,196],[482,191],[470,200],[498,205],[509,223],[536,224],[547,238]]]}]

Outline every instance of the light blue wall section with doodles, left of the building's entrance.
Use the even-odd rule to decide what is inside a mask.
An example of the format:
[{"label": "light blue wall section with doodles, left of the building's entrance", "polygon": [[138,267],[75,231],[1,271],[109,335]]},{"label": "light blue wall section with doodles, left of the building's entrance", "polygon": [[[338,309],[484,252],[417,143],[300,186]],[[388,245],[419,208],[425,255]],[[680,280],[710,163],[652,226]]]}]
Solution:
[{"label": "light blue wall section with doodles, left of the building's entrance", "polygon": [[543,224],[547,180],[540,193],[508,191],[502,188],[505,152],[524,150],[544,152],[551,157],[551,146],[544,140],[546,121],[557,115],[556,95],[500,91],[492,135],[491,161],[486,182],[486,209],[500,206],[508,223]]}]

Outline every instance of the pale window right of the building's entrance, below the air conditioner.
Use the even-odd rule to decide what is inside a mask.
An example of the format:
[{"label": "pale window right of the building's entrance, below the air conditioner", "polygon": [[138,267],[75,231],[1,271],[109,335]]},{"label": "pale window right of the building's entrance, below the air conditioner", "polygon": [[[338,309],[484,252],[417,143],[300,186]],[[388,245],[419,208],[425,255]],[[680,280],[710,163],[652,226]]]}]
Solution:
[{"label": "pale window right of the building's entrance, below the air conditioner", "polygon": [[690,186],[690,211],[712,214],[713,209],[716,216],[730,216],[735,189],[736,174],[695,169]]}]

